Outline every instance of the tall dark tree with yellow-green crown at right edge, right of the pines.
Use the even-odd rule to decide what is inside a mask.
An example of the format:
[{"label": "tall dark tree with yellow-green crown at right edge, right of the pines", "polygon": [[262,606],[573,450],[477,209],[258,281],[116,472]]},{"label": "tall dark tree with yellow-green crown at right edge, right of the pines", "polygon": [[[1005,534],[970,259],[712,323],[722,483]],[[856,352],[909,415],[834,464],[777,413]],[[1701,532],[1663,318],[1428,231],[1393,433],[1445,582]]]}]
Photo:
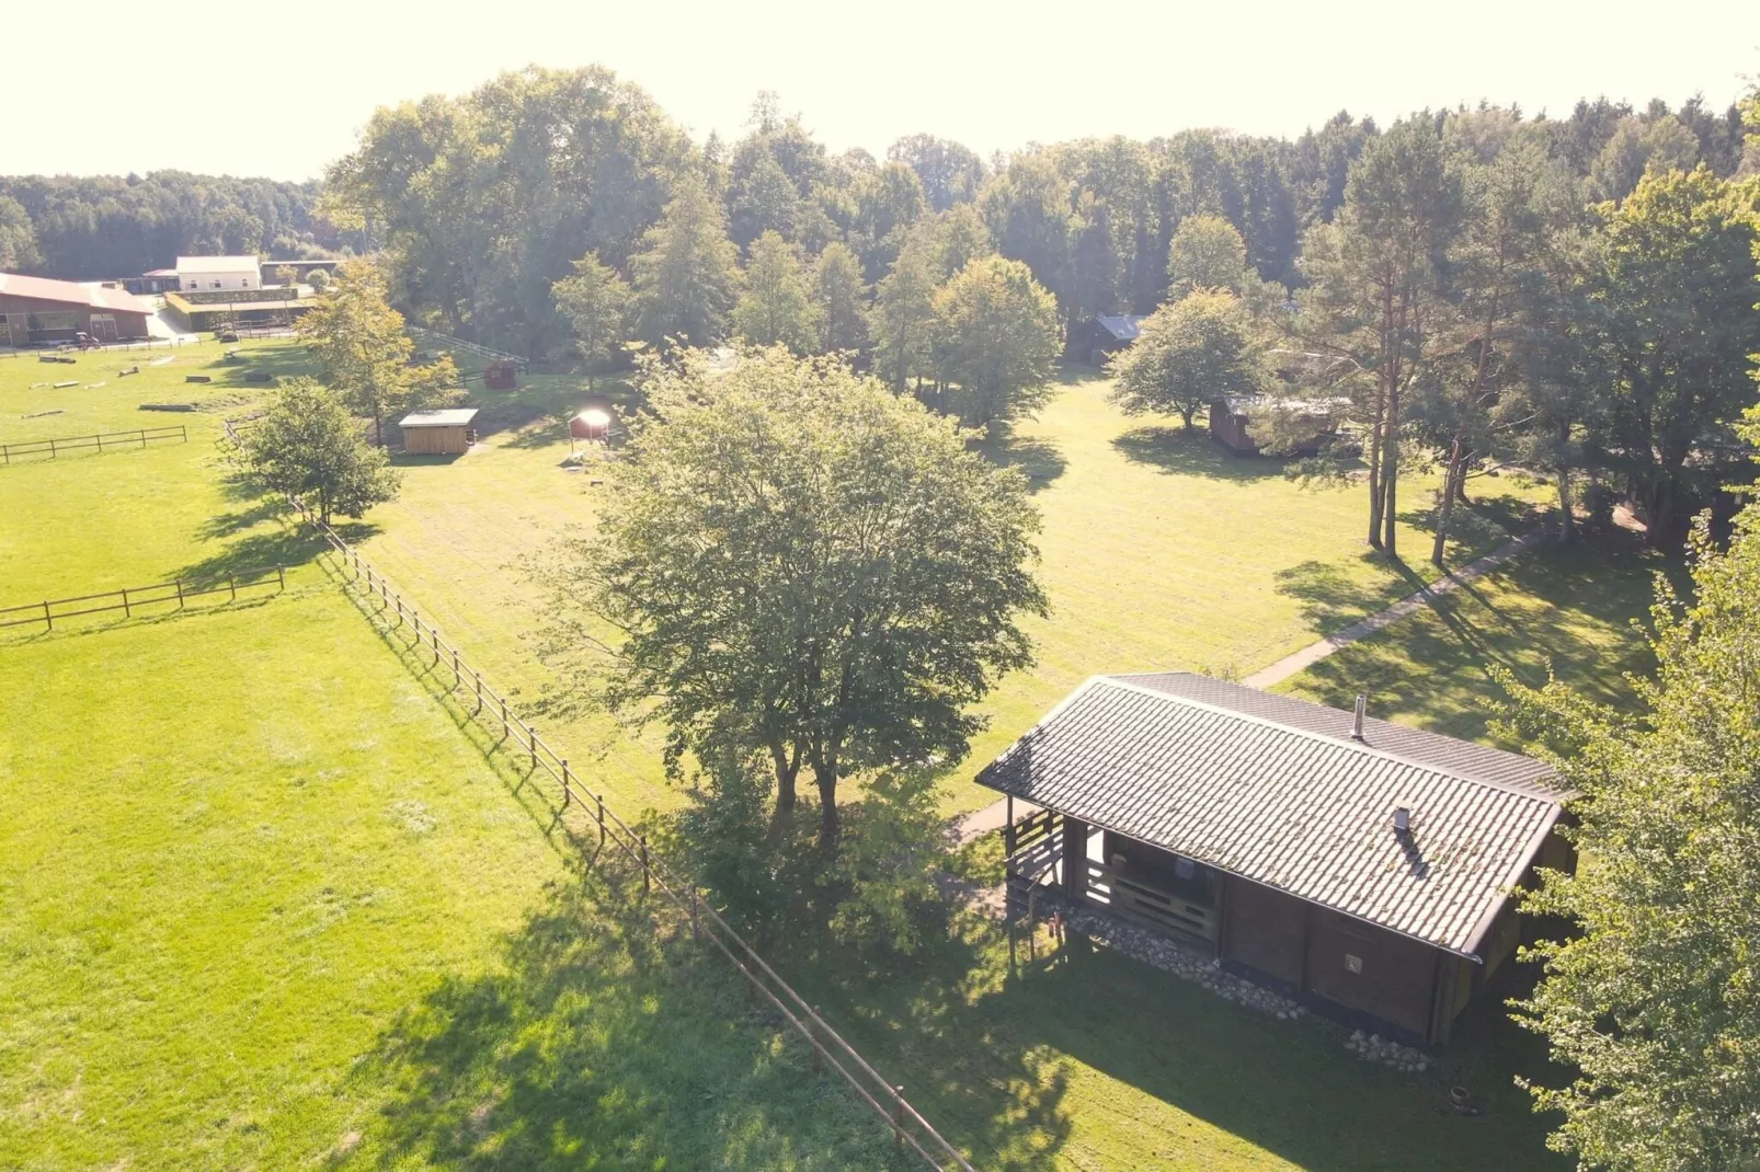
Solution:
[{"label": "tall dark tree with yellow-green crown at right edge, right of the pines", "polygon": [[1730,447],[1728,428],[1753,401],[1756,208],[1760,179],[1730,183],[1700,167],[1647,174],[1617,209],[1602,209],[1612,366],[1605,458],[1653,544],[1679,540],[1681,507],[1716,486],[1712,456]]}]

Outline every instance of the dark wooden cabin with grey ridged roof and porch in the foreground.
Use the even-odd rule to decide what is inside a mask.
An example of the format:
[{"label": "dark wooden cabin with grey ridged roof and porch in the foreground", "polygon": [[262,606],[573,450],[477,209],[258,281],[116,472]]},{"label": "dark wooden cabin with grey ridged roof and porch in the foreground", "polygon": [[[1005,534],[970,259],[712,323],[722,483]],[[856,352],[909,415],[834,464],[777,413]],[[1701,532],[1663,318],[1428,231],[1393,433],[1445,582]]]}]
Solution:
[{"label": "dark wooden cabin with grey ridged roof and porch in the foreground", "polygon": [[[1440,1045],[1568,868],[1542,762],[1190,672],[1096,676],[991,762],[1010,890],[1214,956],[1315,1012]],[[1038,809],[1014,818],[1014,799]],[[1049,892],[1047,892],[1049,889]]]}]

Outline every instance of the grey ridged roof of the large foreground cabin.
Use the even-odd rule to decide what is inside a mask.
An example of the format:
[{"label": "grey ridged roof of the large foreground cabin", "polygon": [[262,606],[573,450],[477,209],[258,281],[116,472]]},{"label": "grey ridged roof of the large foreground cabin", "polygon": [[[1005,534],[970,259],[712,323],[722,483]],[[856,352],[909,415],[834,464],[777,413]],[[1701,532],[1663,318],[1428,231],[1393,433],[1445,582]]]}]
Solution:
[{"label": "grey ridged roof of the large foreground cabin", "polygon": [[1383,722],[1364,743],[1350,729],[1350,713],[1200,676],[1096,676],[977,780],[1477,956],[1559,817],[1545,769]]}]

